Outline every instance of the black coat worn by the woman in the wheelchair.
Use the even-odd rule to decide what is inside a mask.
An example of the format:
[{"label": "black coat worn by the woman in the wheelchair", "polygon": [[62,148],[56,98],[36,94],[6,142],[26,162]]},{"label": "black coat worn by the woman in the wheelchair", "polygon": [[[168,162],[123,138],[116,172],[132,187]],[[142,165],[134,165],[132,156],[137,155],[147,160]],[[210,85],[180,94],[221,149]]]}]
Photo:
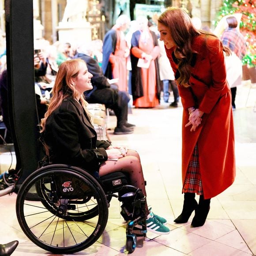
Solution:
[{"label": "black coat worn by the woman in the wheelchair", "polygon": [[93,173],[108,158],[105,149],[110,143],[97,140],[87,113],[70,96],[46,120],[44,140],[53,163],[79,166]]}]

